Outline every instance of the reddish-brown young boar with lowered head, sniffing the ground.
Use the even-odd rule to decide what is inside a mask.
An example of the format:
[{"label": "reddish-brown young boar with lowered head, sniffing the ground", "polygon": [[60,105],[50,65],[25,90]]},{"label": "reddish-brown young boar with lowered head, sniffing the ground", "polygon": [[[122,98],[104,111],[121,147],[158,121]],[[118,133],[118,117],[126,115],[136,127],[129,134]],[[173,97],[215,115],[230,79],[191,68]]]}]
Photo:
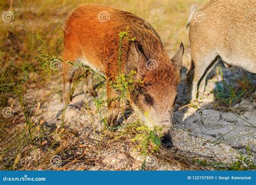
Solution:
[{"label": "reddish-brown young boar with lowered head, sniffing the ground", "polygon": [[[132,13],[103,5],[86,4],[73,11],[64,30],[64,60],[79,61],[92,70],[114,80],[119,74],[118,56],[120,37],[118,33],[129,26],[129,35],[134,41],[124,39],[120,59],[121,72],[143,80],[129,94],[132,108],[147,126],[161,126],[171,138],[172,115],[184,46],[170,60],[157,32],[143,19]],[[71,65],[64,64],[64,101],[71,97]],[[92,81],[90,75],[87,81]],[[87,91],[93,86],[87,83]],[[88,86],[89,85],[89,86]],[[107,98],[114,99],[117,92],[107,84]],[[117,124],[118,100],[108,105],[108,122]]]}]

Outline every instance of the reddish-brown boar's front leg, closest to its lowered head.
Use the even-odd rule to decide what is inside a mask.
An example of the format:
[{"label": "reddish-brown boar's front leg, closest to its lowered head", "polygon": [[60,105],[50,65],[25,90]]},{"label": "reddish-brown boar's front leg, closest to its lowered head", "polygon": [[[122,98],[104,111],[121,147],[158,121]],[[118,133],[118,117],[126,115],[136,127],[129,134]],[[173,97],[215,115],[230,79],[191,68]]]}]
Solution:
[{"label": "reddish-brown boar's front leg, closest to its lowered head", "polygon": [[119,123],[117,122],[119,107],[120,101],[118,99],[118,94],[109,84],[107,84],[107,108],[109,109],[107,124],[109,124],[111,127],[119,125]]}]

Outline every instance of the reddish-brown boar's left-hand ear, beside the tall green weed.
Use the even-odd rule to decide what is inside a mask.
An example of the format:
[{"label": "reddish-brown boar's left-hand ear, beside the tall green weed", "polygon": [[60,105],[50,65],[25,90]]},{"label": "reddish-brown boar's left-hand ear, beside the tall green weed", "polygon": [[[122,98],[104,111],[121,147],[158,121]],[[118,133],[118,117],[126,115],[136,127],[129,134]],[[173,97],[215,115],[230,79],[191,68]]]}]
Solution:
[{"label": "reddish-brown boar's left-hand ear, beside the tall green weed", "polygon": [[139,65],[143,64],[143,61],[146,60],[146,57],[143,54],[142,47],[138,42],[132,42],[126,64],[125,64],[125,72],[130,73],[131,71],[139,70]]}]

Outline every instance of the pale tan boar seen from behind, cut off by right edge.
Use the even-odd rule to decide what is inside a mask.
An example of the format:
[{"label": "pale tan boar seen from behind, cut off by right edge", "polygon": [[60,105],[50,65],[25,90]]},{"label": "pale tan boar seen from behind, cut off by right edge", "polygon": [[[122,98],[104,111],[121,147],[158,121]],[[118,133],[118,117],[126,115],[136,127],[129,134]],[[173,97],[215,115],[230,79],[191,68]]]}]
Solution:
[{"label": "pale tan boar seen from behind, cut off by right edge", "polygon": [[[256,1],[211,1],[191,16],[188,99],[203,94],[218,61],[256,73]],[[199,89],[199,90],[198,90]]]}]

